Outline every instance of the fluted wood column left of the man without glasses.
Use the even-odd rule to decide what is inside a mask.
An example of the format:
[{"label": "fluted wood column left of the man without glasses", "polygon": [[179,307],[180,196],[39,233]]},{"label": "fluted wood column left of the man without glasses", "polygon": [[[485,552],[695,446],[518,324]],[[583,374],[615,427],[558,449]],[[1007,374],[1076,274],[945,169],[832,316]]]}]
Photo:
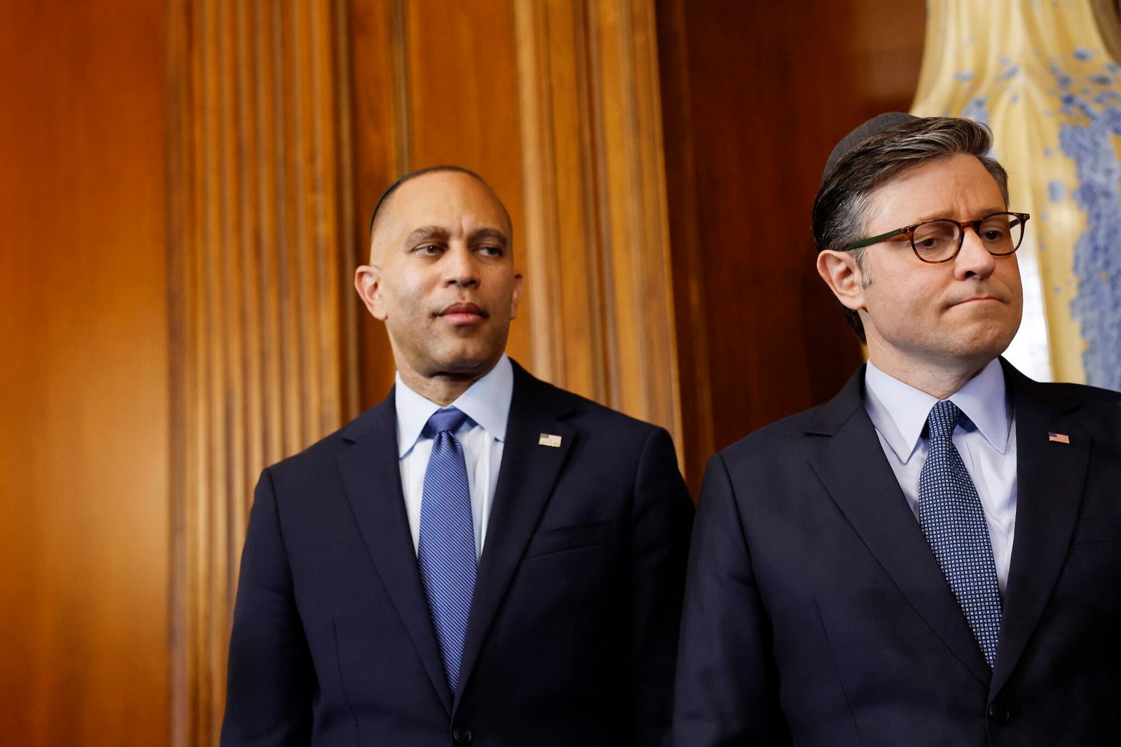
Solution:
[{"label": "fluted wood column left of the man without glasses", "polygon": [[173,744],[216,744],[266,464],[354,409],[342,2],[173,0]]}]

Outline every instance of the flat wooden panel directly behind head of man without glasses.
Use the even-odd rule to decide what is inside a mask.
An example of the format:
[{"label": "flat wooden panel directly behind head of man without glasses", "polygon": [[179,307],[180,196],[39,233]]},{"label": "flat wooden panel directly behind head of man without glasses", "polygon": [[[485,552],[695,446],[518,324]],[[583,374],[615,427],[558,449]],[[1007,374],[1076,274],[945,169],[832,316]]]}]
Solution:
[{"label": "flat wooden panel directly behind head of man without glasses", "polygon": [[[525,271],[522,178],[518,147],[513,6],[510,0],[353,0],[351,48],[361,238],[378,197],[397,177],[452,164],[485,178],[515,227],[515,262]],[[380,402],[396,367],[385,328],[360,316],[361,405]],[[529,361],[526,305],[510,330],[510,353]]]}]

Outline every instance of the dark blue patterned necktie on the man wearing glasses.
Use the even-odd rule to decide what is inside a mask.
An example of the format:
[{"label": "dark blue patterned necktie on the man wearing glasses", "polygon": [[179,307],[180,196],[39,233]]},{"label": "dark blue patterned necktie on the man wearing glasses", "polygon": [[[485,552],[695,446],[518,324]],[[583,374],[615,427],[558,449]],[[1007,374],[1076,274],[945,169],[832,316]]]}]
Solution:
[{"label": "dark blue patterned necktie on the man wearing glasses", "polygon": [[981,497],[952,440],[961,416],[962,411],[948,399],[930,408],[929,451],[918,477],[918,514],[923,534],[991,667],[1000,637],[1000,591]]}]

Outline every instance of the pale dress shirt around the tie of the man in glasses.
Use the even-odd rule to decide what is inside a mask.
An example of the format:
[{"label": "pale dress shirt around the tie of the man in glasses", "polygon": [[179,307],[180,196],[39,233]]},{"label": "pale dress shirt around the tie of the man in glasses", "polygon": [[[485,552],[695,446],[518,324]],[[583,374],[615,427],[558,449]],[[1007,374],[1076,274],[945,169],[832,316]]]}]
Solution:
[{"label": "pale dress shirt around the tie of the man in glasses", "polygon": [[[991,361],[948,399],[963,413],[954,428],[954,446],[981,497],[997,563],[997,580],[1003,593],[1016,533],[1016,417],[1000,361]],[[864,375],[864,408],[916,518],[918,476],[926,463],[928,449],[923,430],[937,402],[869,361]]]}]

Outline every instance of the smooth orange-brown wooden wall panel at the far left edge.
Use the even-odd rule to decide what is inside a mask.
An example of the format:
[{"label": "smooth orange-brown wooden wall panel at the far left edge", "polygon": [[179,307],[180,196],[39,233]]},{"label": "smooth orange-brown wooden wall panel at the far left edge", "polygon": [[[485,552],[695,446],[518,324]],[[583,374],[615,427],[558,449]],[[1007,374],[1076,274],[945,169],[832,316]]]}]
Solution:
[{"label": "smooth orange-brown wooden wall panel at the far left edge", "polygon": [[0,12],[0,744],[167,741],[163,9]]}]

